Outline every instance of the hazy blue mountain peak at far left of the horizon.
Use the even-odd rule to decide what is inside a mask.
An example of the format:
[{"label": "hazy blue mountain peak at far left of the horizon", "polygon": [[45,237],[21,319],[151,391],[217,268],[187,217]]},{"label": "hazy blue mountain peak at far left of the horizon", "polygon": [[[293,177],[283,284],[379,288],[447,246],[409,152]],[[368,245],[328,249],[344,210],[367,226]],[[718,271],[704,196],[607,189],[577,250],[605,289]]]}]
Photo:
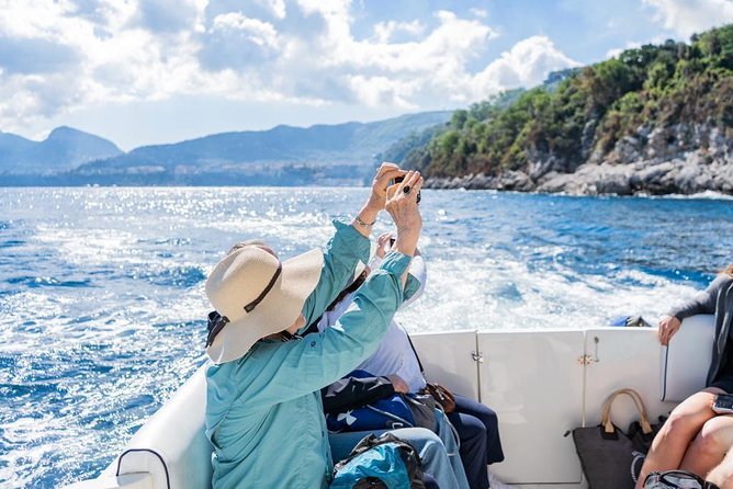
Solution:
[{"label": "hazy blue mountain peak at far left of the horizon", "polygon": [[0,174],[58,172],[121,153],[113,143],[71,127],[57,127],[43,141],[0,133]]}]

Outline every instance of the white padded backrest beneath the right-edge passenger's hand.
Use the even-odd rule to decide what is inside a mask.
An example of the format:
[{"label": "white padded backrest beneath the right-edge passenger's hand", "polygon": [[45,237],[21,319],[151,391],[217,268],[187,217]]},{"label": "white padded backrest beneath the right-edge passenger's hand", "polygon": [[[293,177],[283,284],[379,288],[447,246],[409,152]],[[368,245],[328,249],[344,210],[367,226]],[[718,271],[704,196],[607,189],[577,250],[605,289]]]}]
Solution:
[{"label": "white padded backrest beneath the right-edge passenger's hand", "polygon": [[681,402],[704,387],[714,333],[713,315],[692,316],[683,321],[679,331],[669,340],[669,345],[662,346],[662,400]]}]

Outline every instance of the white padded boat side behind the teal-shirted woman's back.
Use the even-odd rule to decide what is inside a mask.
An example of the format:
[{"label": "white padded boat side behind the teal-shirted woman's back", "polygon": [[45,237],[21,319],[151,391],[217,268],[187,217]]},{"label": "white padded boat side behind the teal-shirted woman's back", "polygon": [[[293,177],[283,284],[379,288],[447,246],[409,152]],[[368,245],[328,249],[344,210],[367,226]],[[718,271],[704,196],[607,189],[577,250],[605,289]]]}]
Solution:
[{"label": "white padded boat side behind the teal-shirted woman's back", "polygon": [[148,420],[115,462],[115,474],[149,473],[155,489],[211,487],[213,447],[204,432],[206,365]]}]

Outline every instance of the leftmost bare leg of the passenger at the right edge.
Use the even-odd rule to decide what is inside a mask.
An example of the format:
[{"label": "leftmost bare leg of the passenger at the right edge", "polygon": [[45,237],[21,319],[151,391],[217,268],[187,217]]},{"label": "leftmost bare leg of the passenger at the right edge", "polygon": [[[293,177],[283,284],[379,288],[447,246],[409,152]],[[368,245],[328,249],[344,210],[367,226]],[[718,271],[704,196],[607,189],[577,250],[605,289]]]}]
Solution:
[{"label": "leftmost bare leg of the passenger at the right edge", "polygon": [[655,470],[679,468],[685,452],[706,421],[715,416],[711,406],[721,389],[709,387],[680,402],[654,437],[642,466],[636,489],[644,487],[646,476]]}]

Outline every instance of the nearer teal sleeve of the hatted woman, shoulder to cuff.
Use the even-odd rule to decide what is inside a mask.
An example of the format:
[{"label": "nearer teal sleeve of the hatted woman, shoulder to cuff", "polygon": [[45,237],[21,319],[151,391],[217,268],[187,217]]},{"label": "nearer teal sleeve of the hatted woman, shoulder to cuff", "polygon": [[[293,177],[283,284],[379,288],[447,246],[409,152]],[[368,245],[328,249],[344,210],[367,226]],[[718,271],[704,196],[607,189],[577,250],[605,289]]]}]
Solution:
[{"label": "nearer teal sleeve of the hatted woman, shoulder to cuff", "polygon": [[401,276],[410,258],[391,252],[331,328],[289,342],[258,343],[233,379],[251,409],[320,390],[351,372],[377,348],[403,300]]}]

